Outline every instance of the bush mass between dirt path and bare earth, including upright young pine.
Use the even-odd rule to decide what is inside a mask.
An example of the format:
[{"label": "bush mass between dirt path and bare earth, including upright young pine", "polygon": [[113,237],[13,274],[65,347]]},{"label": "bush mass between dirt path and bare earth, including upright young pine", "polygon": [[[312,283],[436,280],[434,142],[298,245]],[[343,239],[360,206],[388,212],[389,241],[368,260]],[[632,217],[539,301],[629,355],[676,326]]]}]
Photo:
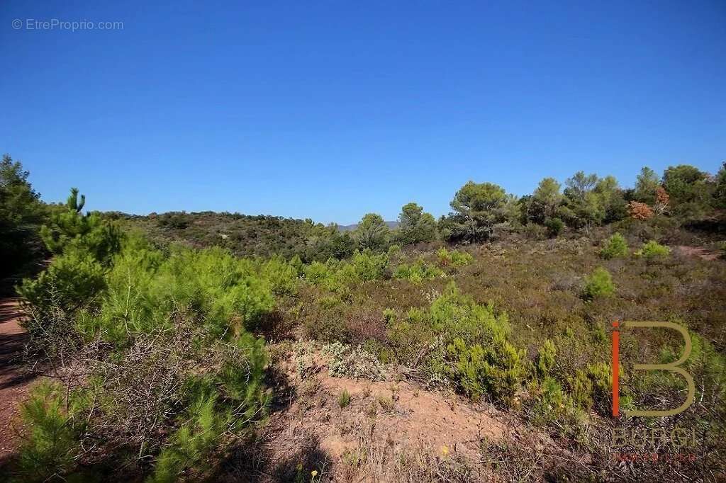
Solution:
[{"label": "bush mass between dirt path and bare earth, including upright young pine", "polygon": [[75,195],[49,238],[57,257],[20,287],[29,353],[62,387],[42,385],[25,405],[30,435],[17,474],[129,464],[144,473],[150,461],[152,481],[203,474],[264,418],[266,355],[251,331],[276,294],[295,292],[298,271],[221,248],[161,252],[107,222],[78,232],[90,222]]}]

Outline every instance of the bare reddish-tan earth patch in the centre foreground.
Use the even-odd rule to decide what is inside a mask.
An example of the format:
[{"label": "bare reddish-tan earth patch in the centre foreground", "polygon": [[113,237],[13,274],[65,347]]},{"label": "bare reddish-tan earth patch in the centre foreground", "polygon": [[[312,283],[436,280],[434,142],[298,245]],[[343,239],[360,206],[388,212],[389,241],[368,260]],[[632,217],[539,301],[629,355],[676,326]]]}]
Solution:
[{"label": "bare reddish-tan earth patch in the centre foreground", "polygon": [[[410,381],[334,377],[327,368],[301,379],[294,363],[282,367],[292,384],[288,405],[273,412],[256,454],[245,456],[252,468],[227,474],[229,481],[242,474],[309,481],[311,471],[333,482],[432,481],[427,471],[446,473],[446,481],[492,481],[482,445],[525,437],[507,413]],[[343,392],[350,402],[341,407]],[[543,434],[534,439],[540,450],[554,444]]]}]

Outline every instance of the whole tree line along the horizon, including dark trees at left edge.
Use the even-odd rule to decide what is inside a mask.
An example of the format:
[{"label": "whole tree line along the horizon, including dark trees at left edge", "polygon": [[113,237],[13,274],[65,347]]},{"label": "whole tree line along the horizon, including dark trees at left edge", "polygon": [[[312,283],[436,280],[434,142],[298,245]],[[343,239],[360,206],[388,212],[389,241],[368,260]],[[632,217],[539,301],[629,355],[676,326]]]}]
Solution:
[{"label": "whole tree line along the horizon, including dark trees at left edge", "polygon": [[[50,253],[40,227],[59,210],[46,204],[28,181],[21,162],[5,154],[0,163],[0,273],[22,273]],[[82,199],[80,201],[82,209]],[[557,236],[563,230],[583,231],[633,218],[668,217],[687,223],[719,215],[726,208],[726,162],[713,176],[691,165],[676,165],[661,176],[642,168],[635,186],[623,188],[613,176],[578,171],[560,183],[543,178],[531,194],[517,197],[496,183],[468,181],[454,194],[449,214],[439,220],[415,202],[401,207],[399,226],[390,228],[377,213],[367,213],[352,231],[312,220],[237,213],[165,213],[138,217],[118,212],[95,216],[140,225],[160,243],[186,241],[195,246],[221,245],[238,256],[293,257],[305,261],[350,257],[356,249],[381,252],[393,244],[406,246],[435,240],[473,243],[510,232]]]}]

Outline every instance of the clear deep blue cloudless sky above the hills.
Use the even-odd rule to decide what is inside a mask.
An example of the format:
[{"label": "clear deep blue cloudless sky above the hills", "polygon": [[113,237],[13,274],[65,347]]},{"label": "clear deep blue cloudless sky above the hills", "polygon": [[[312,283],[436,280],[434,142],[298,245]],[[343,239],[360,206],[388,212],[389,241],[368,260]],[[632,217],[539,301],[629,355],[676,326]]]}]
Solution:
[{"label": "clear deep blue cloudless sky above the hills", "polygon": [[0,60],[0,151],[90,209],[345,224],[726,159],[724,0],[2,0]]}]

